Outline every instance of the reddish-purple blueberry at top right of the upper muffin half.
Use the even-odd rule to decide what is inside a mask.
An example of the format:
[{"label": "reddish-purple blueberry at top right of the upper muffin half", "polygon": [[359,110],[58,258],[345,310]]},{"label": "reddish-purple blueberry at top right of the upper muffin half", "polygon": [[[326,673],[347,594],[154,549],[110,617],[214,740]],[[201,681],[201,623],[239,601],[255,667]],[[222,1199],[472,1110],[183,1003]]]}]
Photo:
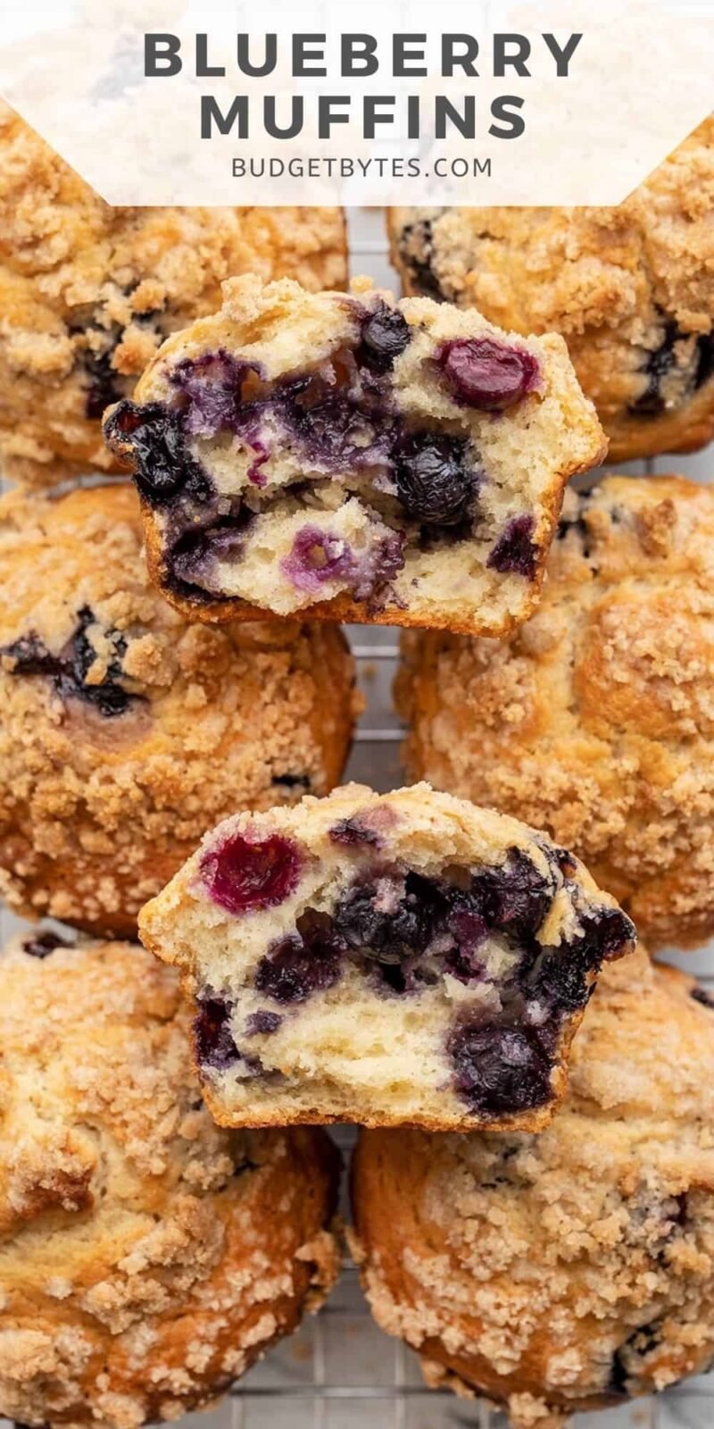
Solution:
[{"label": "reddish-purple blueberry at top right of the upper muffin half", "polygon": [[541,386],[533,353],[493,337],[444,343],[436,360],[454,396],[480,412],[506,412]]}]

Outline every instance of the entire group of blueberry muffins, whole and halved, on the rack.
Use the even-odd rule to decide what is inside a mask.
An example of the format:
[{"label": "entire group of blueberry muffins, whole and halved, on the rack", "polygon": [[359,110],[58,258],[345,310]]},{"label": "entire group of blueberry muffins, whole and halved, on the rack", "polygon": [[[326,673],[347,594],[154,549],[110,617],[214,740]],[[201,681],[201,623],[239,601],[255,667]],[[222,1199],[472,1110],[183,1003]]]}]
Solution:
[{"label": "entire group of blueberry muffins, whole and halved, on the rack", "polygon": [[[714,933],[714,497],[567,483],[711,437],[714,124],[607,213],[391,213],[398,303],[337,211],[0,143],[0,1415],[224,1392],[337,1278],[338,1120],[428,1383],[705,1370],[714,1005],[643,942]],[[407,789],[336,787],[343,620],[408,627]]]}]

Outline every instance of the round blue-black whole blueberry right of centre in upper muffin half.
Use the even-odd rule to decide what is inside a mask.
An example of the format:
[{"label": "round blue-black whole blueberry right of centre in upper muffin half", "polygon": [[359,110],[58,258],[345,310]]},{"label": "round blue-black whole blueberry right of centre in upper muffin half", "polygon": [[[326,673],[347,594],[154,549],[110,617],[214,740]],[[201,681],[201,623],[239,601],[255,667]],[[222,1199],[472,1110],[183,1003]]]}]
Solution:
[{"label": "round blue-black whole blueberry right of centre in upper muffin half", "polygon": [[464,519],[478,474],[468,464],[463,437],[414,433],[394,456],[398,499],[408,516],[428,526],[456,526]]}]

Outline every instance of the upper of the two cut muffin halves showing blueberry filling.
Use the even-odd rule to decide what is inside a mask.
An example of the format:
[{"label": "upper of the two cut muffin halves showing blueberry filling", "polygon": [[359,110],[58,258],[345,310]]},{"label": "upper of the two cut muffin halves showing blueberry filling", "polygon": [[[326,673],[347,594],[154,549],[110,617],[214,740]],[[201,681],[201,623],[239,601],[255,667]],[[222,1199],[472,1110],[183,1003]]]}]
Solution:
[{"label": "upper of the two cut muffin halves showing blueberry filling", "polygon": [[604,450],[563,339],[368,280],[227,283],[104,432],[150,569],[194,617],[490,634],[536,604],[564,483]]}]

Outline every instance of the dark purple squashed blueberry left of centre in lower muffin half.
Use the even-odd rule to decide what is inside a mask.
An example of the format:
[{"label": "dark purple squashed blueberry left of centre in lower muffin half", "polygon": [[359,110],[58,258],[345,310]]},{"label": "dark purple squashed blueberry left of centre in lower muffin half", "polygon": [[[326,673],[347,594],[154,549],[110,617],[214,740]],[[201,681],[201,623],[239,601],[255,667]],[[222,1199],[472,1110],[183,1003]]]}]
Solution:
[{"label": "dark purple squashed blueberry left of centre in lower muffin half", "polygon": [[256,987],[280,1003],[304,1002],[338,980],[343,956],[344,943],[333,919],[307,909],[297,920],[297,933],[261,957]]}]

